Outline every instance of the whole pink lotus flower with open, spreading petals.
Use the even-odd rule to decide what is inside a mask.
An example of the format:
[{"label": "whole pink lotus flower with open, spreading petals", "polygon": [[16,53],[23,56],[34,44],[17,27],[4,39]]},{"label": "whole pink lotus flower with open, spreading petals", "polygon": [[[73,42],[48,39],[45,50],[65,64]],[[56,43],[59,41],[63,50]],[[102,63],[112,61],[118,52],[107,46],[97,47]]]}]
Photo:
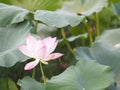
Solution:
[{"label": "whole pink lotus flower with open, spreading petals", "polygon": [[48,64],[47,61],[63,56],[62,53],[52,53],[58,44],[56,37],[47,37],[43,40],[37,40],[32,35],[28,35],[26,38],[26,44],[27,45],[18,46],[18,49],[24,55],[34,58],[35,60],[26,64],[24,70],[33,69],[39,61],[43,64]]}]

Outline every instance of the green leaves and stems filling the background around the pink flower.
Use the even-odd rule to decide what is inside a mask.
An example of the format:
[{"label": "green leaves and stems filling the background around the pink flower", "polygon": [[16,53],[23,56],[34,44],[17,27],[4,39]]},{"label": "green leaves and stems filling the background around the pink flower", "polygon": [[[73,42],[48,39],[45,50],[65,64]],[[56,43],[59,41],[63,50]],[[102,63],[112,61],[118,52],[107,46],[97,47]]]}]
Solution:
[{"label": "green leaves and stems filling the background around the pink flower", "polygon": [[[119,90],[119,28],[119,0],[0,0],[0,90]],[[64,53],[43,65],[46,85],[39,65],[23,69],[29,33]]]}]

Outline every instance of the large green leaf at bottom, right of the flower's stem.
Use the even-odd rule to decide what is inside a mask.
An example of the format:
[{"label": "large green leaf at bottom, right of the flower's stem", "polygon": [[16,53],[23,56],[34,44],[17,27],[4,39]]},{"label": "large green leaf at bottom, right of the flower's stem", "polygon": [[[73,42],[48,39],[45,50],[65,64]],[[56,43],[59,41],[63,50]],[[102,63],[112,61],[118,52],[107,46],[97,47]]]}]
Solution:
[{"label": "large green leaf at bottom, right of the flower's stem", "polygon": [[103,90],[113,82],[108,66],[93,60],[80,60],[62,74],[47,81],[47,90]]}]

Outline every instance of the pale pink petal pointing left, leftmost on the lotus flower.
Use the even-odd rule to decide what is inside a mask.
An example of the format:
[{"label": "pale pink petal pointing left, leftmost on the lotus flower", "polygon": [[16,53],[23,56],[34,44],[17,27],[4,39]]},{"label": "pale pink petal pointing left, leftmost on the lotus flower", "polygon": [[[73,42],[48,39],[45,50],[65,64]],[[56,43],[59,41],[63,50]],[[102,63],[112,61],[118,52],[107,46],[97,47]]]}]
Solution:
[{"label": "pale pink petal pointing left, leftmost on the lotus flower", "polygon": [[21,46],[18,46],[18,49],[26,56],[29,56],[31,58],[34,58],[34,55],[33,53],[28,49],[27,46],[24,46],[24,45],[21,45]]}]

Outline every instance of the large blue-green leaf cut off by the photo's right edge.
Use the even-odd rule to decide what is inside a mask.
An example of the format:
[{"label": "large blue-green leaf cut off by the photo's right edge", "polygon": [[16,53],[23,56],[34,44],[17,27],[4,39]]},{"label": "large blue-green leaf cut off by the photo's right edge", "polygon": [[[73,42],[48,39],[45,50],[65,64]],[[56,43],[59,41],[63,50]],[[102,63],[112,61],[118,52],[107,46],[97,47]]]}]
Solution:
[{"label": "large blue-green leaf cut off by the photo's right edge", "polygon": [[108,30],[97,37],[92,47],[77,48],[77,58],[94,59],[111,66],[117,82],[120,82],[120,29]]}]

